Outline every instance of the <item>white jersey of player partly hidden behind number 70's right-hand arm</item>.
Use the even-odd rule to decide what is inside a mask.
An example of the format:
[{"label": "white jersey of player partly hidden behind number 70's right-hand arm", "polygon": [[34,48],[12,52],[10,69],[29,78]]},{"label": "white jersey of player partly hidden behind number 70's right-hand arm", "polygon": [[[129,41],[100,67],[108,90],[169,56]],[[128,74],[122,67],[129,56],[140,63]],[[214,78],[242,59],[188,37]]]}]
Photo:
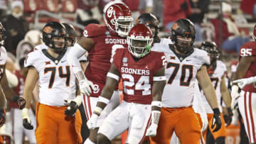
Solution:
[{"label": "white jersey of player partly hidden behind number 70's right-hand arm", "polygon": [[[220,109],[220,112],[222,112],[222,106],[220,105],[220,99],[221,99],[220,83],[221,83],[222,77],[226,71],[227,71],[227,67],[225,66],[225,64],[222,61],[217,60],[216,68],[215,68],[213,74],[210,75],[210,80],[211,80],[213,87],[215,89],[215,92],[216,92],[218,107]],[[201,94],[203,95],[203,91],[201,92]],[[202,97],[202,101],[203,101],[203,106],[206,109],[206,113],[213,113],[213,110],[210,108],[210,105],[209,105],[208,101],[206,100],[206,96]]]}]

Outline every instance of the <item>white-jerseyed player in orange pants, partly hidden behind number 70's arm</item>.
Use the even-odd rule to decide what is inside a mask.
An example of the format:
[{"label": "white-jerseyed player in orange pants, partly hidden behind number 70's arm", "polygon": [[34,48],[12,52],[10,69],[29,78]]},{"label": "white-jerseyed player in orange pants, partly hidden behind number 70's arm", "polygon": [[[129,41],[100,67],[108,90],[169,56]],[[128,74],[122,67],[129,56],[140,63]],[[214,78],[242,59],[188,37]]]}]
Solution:
[{"label": "white-jerseyed player in orange pants, partly hidden behind number 70's arm", "polygon": [[[223,101],[225,102],[225,106],[227,106],[228,108],[228,116],[230,117],[229,121],[227,121],[228,125],[231,123],[231,117],[233,116],[233,112],[230,107],[231,97],[228,92],[228,87],[225,84],[225,72],[227,71],[227,68],[221,60],[218,60],[218,48],[217,45],[215,45],[215,43],[205,41],[201,43],[199,49],[205,50],[206,52],[208,52],[208,55],[210,56],[210,65],[207,66],[207,72],[209,74],[213,87],[215,88],[222,123],[220,130],[215,133],[213,133],[213,128],[208,126],[208,130],[204,133],[206,137],[206,143],[225,143],[226,130],[225,120],[222,113],[222,106],[220,104],[221,96],[223,98]],[[206,109],[208,122],[212,123],[213,110],[210,108],[206,96],[203,96],[203,106]]]}]

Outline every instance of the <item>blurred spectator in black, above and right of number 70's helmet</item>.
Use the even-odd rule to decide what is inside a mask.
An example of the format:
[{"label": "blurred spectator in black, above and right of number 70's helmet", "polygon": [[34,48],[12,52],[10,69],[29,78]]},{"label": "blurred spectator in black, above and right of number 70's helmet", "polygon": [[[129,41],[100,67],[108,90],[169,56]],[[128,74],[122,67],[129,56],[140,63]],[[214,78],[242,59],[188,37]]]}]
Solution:
[{"label": "blurred spectator in black, above and right of number 70's helmet", "polygon": [[210,0],[190,0],[192,14],[188,16],[196,28],[196,40],[204,41],[200,24],[203,23],[203,16],[208,11]]}]

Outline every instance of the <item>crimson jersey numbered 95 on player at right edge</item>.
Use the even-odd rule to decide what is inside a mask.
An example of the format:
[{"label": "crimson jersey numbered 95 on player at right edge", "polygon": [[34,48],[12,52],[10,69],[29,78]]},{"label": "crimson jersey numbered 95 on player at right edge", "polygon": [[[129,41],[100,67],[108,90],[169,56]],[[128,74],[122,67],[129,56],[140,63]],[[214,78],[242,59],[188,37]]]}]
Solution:
[{"label": "crimson jersey numbered 95 on player at right edge", "polygon": [[[252,62],[249,69],[245,73],[245,76],[242,78],[247,77],[255,77],[256,75],[256,42],[249,42],[242,45],[239,52],[239,60],[241,57],[254,57],[255,62]],[[256,92],[256,88],[253,87],[253,84],[246,85],[242,90],[248,92]]]}]

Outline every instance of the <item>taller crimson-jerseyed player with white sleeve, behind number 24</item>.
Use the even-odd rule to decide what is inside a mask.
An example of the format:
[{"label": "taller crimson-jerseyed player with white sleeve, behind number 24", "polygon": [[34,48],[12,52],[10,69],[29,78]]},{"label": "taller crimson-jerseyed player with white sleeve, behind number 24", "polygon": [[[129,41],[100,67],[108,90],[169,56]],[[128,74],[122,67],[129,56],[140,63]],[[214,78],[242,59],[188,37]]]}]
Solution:
[{"label": "taller crimson-jerseyed player with white sleeve, behind number 24", "polygon": [[[129,8],[122,3],[111,3],[105,6],[104,20],[106,26],[89,24],[83,31],[83,36],[71,48],[68,62],[79,81],[82,104],[85,107],[87,119],[92,116],[98,96],[105,86],[107,72],[110,70],[111,57],[117,48],[127,47],[126,36],[132,28],[132,15]],[[78,57],[89,53],[89,65],[82,72]],[[119,104],[119,92],[116,90],[110,104],[97,121],[97,128],[90,130],[90,136],[85,144],[96,143],[97,131],[103,120],[112,109]]]}]

